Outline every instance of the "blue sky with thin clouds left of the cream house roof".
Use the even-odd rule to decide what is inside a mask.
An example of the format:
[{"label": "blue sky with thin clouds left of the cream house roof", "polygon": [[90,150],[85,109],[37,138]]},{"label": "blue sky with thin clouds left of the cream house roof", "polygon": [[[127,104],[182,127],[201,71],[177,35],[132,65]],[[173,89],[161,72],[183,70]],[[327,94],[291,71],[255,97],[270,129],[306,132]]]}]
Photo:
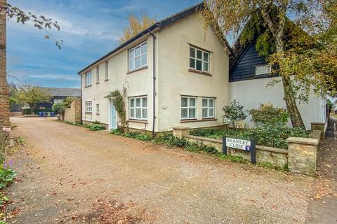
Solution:
[{"label": "blue sky with thin clouds left of the cream house roof", "polygon": [[[58,50],[44,31],[32,25],[7,24],[8,82],[47,87],[80,87],[77,71],[118,45],[128,15],[147,13],[161,20],[199,0],[8,0],[26,12],[57,20],[51,34],[64,44]],[[13,78],[14,77],[14,78]]]}]

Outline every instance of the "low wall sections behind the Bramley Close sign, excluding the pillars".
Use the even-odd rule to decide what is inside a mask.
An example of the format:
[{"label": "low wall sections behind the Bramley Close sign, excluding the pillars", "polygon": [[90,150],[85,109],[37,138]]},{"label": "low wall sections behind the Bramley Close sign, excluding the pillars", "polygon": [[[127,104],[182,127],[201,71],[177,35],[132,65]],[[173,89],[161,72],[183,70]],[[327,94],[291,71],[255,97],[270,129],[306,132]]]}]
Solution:
[{"label": "low wall sections behind the Bramley Close sign, excluding the pillars", "polygon": [[[184,135],[184,139],[196,144],[213,146],[219,152],[222,151],[223,141],[218,139],[209,139],[192,135]],[[251,160],[251,154],[235,148],[227,147],[228,155],[242,156],[245,160]],[[281,168],[288,163],[288,150],[282,148],[272,148],[267,146],[256,146],[256,162],[269,162],[275,167]]]}]

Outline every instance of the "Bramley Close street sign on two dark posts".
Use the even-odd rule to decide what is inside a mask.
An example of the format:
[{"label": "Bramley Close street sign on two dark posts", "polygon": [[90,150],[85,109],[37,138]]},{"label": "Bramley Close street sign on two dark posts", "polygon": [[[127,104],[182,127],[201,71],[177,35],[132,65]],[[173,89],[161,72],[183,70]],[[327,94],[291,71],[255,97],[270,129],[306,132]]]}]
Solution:
[{"label": "Bramley Close street sign on two dark posts", "polygon": [[237,148],[243,151],[248,151],[251,153],[251,163],[256,163],[256,147],[255,139],[244,140],[244,139],[233,139],[223,136],[223,154],[227,155],[227,147]]}]

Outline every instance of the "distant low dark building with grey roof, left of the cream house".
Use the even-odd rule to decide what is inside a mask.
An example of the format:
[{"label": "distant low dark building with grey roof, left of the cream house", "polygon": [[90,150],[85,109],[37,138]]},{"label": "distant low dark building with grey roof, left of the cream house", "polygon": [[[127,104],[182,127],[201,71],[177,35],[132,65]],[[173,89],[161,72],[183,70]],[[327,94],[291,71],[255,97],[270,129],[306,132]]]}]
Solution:
[{"label": "distant low dark building with grey roof, left of the cream house", "polygon": [[51,101],[37,104],[37,109],[51,109],[53,104],[60,103],[67,97],[81,97],[79,88],[40,87],[51,94]]}]

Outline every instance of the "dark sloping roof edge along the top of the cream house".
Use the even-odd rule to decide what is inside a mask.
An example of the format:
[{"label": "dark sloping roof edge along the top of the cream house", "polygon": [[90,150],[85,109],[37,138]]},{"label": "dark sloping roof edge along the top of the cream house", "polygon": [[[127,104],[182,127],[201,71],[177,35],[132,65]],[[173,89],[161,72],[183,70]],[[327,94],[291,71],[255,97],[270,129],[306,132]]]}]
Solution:
[{"label": "dark sloping roof edge along the top of the cream house", "polygon": [[[182,10],[179,13],[173,14],[173,15],[167,17],[167,18],[164,18],[163,20],[160,20],[159,22],[154,23],[154,25],[152,25],[151,27],[149,27],[149,28],[145,29],[144,31],[140,32],[136,36],[133,36],[133,38],[131,38],[130,40],[126,41],[125,43],[122,43],[117,48],[114,48],[114,50],[108,52],[106,55],[103,55],[103,57],[100,57],[99,59],[95,60],[95,62],[89,64],[84,69],[81,69],[81,71],[79,71],[78,74],[82,73],[83,71],[90,68],[94,64],[100,62],[101,60],[105,59],[106,57],[109,57],[114,52],[117,52],[118,50],[121,50],[121,48],[124,48],[126,45],[132,43],[133,41],[136,41],[141,36],[144,36],[145,34],[149,34],[150,31],[152,31],[154,29],[161,29],[161,28],[166,27],[167,25],[171,25],[173,22],[176,22],[176,21],[178,21],[182,18],[185,18],[187,15],[195,13],[197,10],[203,10],[204,7],[205,7],[204,1],[201,1],[200,3],[197,3],[196,5],[191,6],[190,8],[186,8],[185,10]],[[230,50],[230,52],[232,52],[232,48],[230,47],[227,40],[224,37],[222,37],[222,38],[223,38],[223,41],[225,42],[226,47]]]}]

